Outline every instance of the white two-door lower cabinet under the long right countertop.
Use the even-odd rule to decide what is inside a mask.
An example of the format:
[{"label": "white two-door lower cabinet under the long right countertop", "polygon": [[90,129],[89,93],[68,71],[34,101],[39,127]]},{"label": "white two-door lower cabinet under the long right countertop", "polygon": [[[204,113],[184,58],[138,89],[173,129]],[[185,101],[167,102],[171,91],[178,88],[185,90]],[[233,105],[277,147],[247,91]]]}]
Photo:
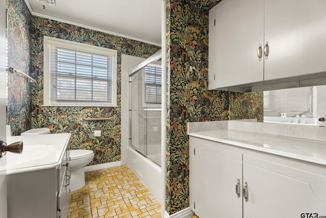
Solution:
[{"label": "white two-door lower cabinet under the long right countertop", "polygon": [[326,214],[324,165],[189,138],[190,206],[199,217]]}]

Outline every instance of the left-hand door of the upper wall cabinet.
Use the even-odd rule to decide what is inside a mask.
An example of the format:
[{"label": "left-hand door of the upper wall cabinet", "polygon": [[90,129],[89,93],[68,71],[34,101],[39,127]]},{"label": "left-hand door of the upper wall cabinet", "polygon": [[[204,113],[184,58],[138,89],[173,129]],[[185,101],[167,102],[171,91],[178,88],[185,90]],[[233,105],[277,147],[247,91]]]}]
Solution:
[{"label": "left-hand door of the upper wall cabinet", "polygon": [[212,9],[216,88],[262,81],[264,61],[259,61],[257,53],[264,42],[263,0],[229,0],[220,4]]}]

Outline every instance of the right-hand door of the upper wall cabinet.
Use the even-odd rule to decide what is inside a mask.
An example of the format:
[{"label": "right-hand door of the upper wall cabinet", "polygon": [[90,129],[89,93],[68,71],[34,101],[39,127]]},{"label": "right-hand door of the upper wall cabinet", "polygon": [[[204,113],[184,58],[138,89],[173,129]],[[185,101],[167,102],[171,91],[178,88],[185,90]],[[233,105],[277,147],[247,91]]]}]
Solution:
[{"label": "right-hand door of the upper wall cabinet", "polygon": [[326,71],[326,1],[265,0],[265,80]]}]

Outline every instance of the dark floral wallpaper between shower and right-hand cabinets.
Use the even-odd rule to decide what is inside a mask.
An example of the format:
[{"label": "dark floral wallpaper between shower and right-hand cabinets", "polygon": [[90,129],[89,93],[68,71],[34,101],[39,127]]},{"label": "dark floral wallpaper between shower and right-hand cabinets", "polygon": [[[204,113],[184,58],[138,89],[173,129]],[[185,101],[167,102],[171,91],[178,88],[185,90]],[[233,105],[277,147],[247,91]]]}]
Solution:
[{"label": "dark floral wallpaper between shower and right-hand cabinets", "polygon": [[167,1],[166,210],[189,206],[186,124],[263,117],[262,92],[208,90],[208,14],[216,0]]}]

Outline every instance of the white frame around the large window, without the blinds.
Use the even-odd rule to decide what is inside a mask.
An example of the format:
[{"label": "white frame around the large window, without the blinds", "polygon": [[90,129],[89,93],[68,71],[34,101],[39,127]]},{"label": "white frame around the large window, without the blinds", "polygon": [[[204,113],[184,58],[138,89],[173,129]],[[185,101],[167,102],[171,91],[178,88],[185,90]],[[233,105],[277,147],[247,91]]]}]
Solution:
[{"label": "white frame around the large window, without the blinds", "polygon": [[[92,53],[113,57],[112,103],[107,102],[51,102],[50,81],[50,47],[59,46],[62,49]],[[72,107],[117,107],[117,50],[95,45],[73,42],[53,37],[43,37],[43,105],[42,106],[72,106]]]}]

